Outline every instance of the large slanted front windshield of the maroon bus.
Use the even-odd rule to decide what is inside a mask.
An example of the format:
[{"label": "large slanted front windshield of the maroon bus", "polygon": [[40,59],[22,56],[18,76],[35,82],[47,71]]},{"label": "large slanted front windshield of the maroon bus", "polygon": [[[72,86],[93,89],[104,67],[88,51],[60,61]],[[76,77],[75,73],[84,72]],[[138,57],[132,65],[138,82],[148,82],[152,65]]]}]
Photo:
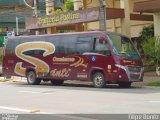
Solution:
[{"label": "large slanted front windshield of the maroon bus", "polygon": [[108,36],[111,39],[111,46],[116,55],[125,57],[126,59],[140,59],[138,51],[130,39],[116,34],[108,34]]}]

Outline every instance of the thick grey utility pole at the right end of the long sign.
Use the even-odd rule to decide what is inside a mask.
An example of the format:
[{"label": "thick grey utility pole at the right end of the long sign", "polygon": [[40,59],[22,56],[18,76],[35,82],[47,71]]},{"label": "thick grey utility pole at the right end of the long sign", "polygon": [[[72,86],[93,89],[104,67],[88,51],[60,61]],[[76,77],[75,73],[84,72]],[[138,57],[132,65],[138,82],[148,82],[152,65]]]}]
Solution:
[{"label": "thick grey utility pole at the right end of the long sign", "polygon": [[99,0],[100,9],[99,9],[99,26],[101,30],[107,31],[107,23],[106,23],[106,1]]}]

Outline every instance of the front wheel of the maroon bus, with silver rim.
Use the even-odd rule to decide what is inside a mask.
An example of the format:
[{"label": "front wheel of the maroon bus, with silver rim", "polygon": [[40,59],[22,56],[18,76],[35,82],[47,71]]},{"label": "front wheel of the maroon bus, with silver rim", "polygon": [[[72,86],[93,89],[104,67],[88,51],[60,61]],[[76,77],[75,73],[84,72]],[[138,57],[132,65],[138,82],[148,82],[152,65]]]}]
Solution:
[{"label": "front wheel of the maroon bus, with silver rim", "polygon": [[93,74],[93,85],[96,88],[104,88],[106,86],[106,81],[104,74],[102,72],[96,72]]}]

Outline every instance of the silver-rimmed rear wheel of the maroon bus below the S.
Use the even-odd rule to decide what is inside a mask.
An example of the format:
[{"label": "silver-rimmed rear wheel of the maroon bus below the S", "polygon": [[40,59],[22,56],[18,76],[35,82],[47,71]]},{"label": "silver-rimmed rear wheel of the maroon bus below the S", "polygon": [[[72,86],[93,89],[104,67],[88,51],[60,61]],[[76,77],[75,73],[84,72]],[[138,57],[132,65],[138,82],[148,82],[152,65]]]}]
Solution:
[{"label": "silver-rimmed rear wheel of the maroon bus below the S", "polygon": [[27,73],[27,82],[29,85],[39,85],[41,79],[36,78],[36,73],[34,71],[29,71]]}]

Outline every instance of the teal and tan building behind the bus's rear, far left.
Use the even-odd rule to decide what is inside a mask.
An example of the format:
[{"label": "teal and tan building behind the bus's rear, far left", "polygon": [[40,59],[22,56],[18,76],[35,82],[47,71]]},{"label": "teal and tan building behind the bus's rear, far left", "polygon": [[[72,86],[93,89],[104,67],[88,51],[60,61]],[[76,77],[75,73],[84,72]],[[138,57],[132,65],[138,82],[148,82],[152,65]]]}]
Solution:
[{"label": "teal and tan building behind the bus's rear, far left", "polygon": [[[27,0],[32,4],[31,0]],[[7,31],[16,31],[16,17],[19,18],[19,31],[25,31],[24,15],[30,14],[31,10],[26,9],[23,0],[0,0],[0,34]]]}]

